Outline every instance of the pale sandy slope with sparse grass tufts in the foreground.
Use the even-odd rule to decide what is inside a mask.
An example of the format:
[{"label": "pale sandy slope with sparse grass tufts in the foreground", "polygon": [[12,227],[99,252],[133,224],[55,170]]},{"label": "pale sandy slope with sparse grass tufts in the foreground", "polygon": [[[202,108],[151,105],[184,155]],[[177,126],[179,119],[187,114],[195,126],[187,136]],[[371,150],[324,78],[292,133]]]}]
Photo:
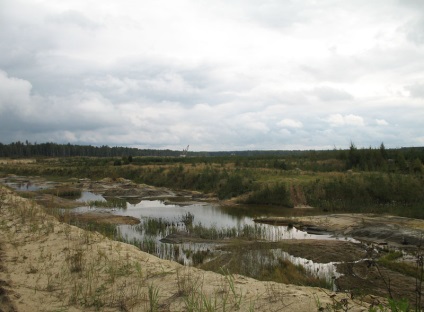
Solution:
[{"label": "pale sandy slope with sparse grass tufts in the foreground", "polygon": [[[318,288],[224,276],[59,223],[0,186],[0,311],[317,311],[367,304]],[[149,295],[150,294],[150,295]],[[331,296],[330,296],[331,295]],[[317,303],[319,302],[319,304]],[[155,310],[156,309],[156,310]]]}]

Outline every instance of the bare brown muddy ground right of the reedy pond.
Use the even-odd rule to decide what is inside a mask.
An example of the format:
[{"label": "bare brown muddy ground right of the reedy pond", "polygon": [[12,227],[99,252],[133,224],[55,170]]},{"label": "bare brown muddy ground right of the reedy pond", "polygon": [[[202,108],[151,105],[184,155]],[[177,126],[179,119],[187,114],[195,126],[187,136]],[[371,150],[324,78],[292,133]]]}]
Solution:
[{"label": "bare brown muddy ground right of the reedy pond", "polygon": [[[316,255],[327,255],[326,260],[341,261],[340,253],[349,253],[351,260],[337,265],[337,270],[343,275],[336,280],[339,290],[349,291],[361,296],[372,293],[379,296],[407,298],[414,303],[417,299],[416,283],[421,272],[424,251],[424,220],[410,219],[390,215],[375,214],[331,214],[313,217],[293,218],[262,218],[256,220],[270,224],[293,225],[313,233],[335,233],[357,239],[361,244],[354,244],[357,252],[347,249],[329,248],[331,243],[313,243],[310,246],[302,243],[303,247],[294,253],[307,259]],[[300,251],[300,252],[299,252]],[[389,252],[402,251],[403,257],[394,260],[398,270],[386,268],[379,259]],[[292,251],[290,251],[292,252]],[[315,255],[315,256],[314,256]],[[360,255],[360,256],[359,256]],[[356,256],[359,259],[354,260]],[[324,261],[321,259],[320,261]],[[405,273],[407,271],[407,273]]]}]

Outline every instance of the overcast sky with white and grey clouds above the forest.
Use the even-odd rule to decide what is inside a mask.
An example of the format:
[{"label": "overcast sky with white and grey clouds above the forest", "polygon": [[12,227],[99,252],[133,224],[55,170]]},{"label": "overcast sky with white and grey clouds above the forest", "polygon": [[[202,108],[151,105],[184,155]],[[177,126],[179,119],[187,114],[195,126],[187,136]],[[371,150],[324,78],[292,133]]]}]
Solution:
[{"label": "overcast sky with white and grey clouds above the forest", "polygon": [[0,0],[0,142],[424,146],[422,0]]}]

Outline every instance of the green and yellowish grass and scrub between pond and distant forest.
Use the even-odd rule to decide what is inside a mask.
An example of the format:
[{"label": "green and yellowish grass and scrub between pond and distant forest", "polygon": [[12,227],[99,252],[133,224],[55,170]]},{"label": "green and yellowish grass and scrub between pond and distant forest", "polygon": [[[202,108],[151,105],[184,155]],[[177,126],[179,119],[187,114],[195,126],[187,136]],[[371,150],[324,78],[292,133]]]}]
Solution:
[{"label": "green and yellowish grass and scrub between pond and distant forest", "polygon": [[[8,150],[10,154],[16,146],[2,148],[3,153]],[[0,164],[0,171],[55,179],[125,178],[157,187],[196,190],[246,204],[309,205],[331,212],[424,217],[422,148],[392,150],[381,144],[379,148],[359,149],[352,143],[348,150],[199,154],[192,152],[191,157],[185,158],[127,154],[122,159],[107,154],[37,158],[26,165]],[[122,160],[119,166],[114,165],[117,159]],[[61,193],[71,196],[74,191]]]}]

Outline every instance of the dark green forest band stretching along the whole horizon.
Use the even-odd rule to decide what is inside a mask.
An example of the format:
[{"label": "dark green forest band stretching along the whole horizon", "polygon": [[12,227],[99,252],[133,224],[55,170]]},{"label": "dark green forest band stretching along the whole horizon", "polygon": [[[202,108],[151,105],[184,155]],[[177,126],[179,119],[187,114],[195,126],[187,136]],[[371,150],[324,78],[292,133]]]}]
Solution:
[{"label": "dark green forest band stretching along the whole horizon", "polygon": [[[131,147],[109,147],[91,145],[73,145],[57,143],[13,142],[0,143],[0,157],[122,157],[126,160],[134,157],[158,157],[148,161],[152,163],[170,162],[169,157],[189,156],[183,162],[205,161],[204,157],[231,157],[237,166],[242,167],[274,167],[278,169],[295,169],[293,165],[303,170],[340,171],[355,169],[359,171],[389,171],[389,172],[421,172],[424,163],[424,147],[407,147],[386,149],[384,143],[378,148],[357,148],[351,143],[349,149],[309,150],[309,151],[221,151],[221,152],[187,152],[169,149],[139,149]],[[331,162],[330,160],[337,160]],[[146,160],[147,161],[147,160]],[[215,160],[216,161],[216,160]],[[141,159],[134,162],[142,163]],[[171,161],[172,162],[172,161]]]}]

